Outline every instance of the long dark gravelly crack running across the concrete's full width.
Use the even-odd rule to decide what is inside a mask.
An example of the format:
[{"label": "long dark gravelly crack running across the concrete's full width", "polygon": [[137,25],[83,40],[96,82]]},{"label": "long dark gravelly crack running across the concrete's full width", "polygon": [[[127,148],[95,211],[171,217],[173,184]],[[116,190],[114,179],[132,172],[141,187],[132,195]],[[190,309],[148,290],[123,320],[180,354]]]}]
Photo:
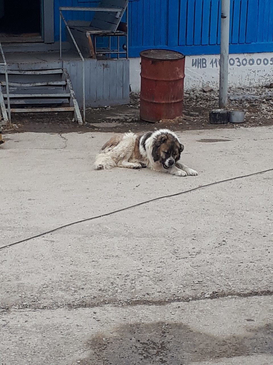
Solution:
[{"label": "long dark gravelly crack running across the concrete's full width", "polygon": [[48,306],[31,306],[28,304],[17,304],[17,305],[4,305],[0,304],[0,314],[3,312],[8,312],[11,309],[14,310],[58,310],[58,309],[85,309],[85,308],[98,308],[103,306],[114,306],[114,307],[136,307],[136,306],[166,306],[168,304],[173,303],[189,303],[192,301],[199,300],[214,300],[220,298],[234,297],[234,298],[249,298],[249,297],[257,297],[257,296],[272,296],[273,290],[261,290],[261,291],[249,291],[249,292],[213,292],[211,294],[201,294],[192,297],[177,297],[177,298],[169,298],[169,299],[159,299],[159,300],[149,300],[149,299],[136,299],[136,300],[104,300],[100,302],[92,302],[84,300],[80,303],[67,303],[63,306],[58,304],[56,305],[48,305]]}]

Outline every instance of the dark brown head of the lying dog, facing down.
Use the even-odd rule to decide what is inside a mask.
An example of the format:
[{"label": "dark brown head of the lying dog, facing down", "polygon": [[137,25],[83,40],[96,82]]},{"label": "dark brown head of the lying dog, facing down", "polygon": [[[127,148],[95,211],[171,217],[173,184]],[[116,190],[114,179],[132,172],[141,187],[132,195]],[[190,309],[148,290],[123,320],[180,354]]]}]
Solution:
[{"label": "dark brown head of the lying dog, facing down", "polygon": [[168,169],[179,160],[183,149],[175,135],[162,131],[154,139],[152,156],[155,162],[159,161],[164,169]]}]

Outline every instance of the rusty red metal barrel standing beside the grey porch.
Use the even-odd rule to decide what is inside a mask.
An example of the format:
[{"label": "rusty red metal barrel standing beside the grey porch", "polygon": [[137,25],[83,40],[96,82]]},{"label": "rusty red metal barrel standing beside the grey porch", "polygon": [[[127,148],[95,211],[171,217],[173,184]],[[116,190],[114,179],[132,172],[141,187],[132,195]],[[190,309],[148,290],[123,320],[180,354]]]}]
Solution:
[{"label": "rusty red metal barrel standing beside the grey porch", "polygon": [[159,122],[182,115],[185,55],[150,49],[141,52],[140,119]]}]

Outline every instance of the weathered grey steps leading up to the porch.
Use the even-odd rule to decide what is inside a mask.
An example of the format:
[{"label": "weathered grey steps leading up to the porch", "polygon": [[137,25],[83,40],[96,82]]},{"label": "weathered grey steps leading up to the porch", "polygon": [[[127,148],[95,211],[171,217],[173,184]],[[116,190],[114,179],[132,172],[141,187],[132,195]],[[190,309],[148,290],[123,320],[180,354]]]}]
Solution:
[{"label": "weathered grey steps leading up to the porch", "polygon": [[[3,57],[3,54],[2,54]],[[0,65],[0,111],[2,123],[11,121],[13,113],[74,112],[83,124],[78,102],[65,68],[13,69]]]}]

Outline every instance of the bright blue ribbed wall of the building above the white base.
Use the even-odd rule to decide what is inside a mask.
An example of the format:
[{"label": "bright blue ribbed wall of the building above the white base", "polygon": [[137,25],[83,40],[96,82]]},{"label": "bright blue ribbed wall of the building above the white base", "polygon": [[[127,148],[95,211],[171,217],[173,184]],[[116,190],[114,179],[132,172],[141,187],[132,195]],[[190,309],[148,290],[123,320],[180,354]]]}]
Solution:
[{"label": "bright blue ribbed wall of the building above the white base", "polygon": [[[59,6],[95,6],[98,1],[55,0],[55,39]],[[230,0],[230,53],[273,51],[273,0]],[[88,12],[67,19],[91,19]],[[218,54],[221,0],[129,0],[129,56],[147,48],[186,55]]]}]

